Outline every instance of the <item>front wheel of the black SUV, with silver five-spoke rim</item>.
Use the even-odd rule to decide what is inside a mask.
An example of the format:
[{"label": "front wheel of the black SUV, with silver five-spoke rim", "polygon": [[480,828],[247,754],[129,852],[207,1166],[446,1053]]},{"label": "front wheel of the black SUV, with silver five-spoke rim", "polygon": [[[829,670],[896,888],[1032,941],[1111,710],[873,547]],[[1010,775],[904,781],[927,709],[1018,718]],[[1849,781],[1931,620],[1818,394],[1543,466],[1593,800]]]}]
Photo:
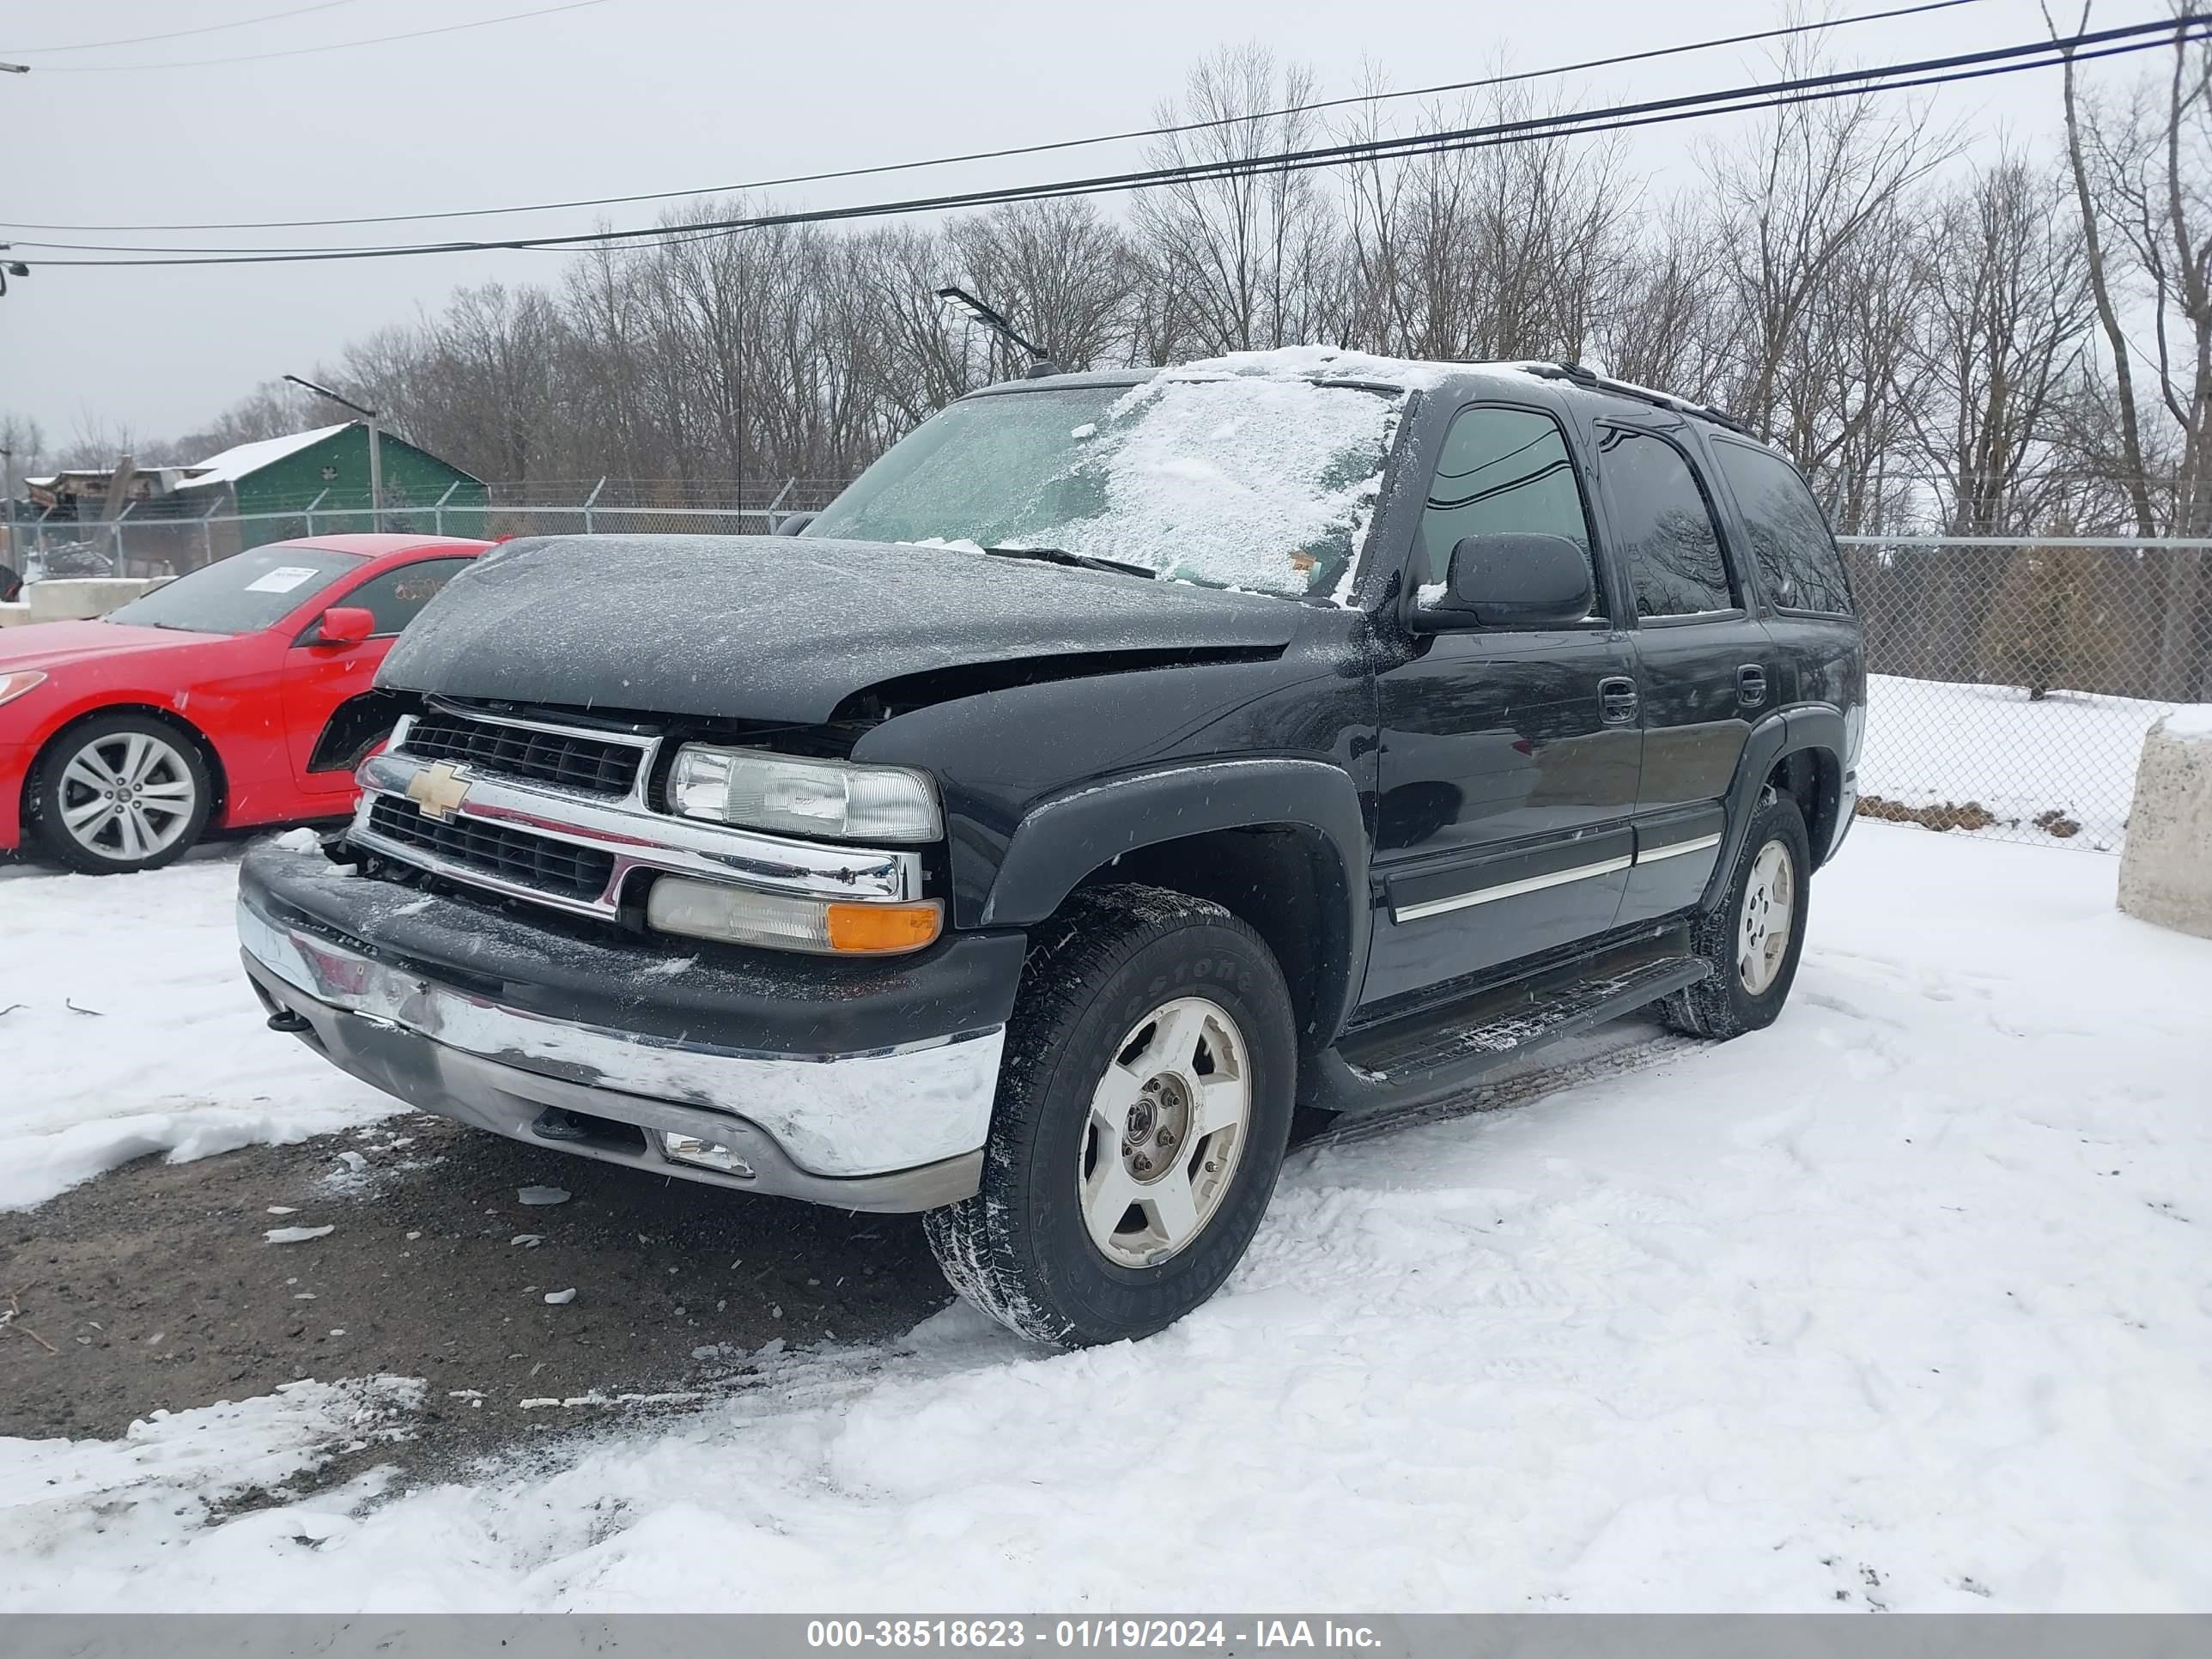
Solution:
[{"label": "front wheel of the black SUV, with silver five-spoke rim", "polygon": [[1290,991],[1259,933],[1161,887],[1079,894],[1040,933],[982,1188],[922,1228],[953,1290],[1022,1336],[1150,1336],[1221,1287],[1274,1194]]}]

